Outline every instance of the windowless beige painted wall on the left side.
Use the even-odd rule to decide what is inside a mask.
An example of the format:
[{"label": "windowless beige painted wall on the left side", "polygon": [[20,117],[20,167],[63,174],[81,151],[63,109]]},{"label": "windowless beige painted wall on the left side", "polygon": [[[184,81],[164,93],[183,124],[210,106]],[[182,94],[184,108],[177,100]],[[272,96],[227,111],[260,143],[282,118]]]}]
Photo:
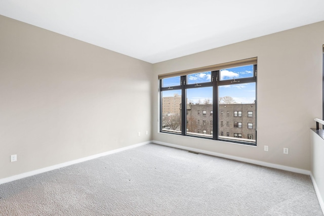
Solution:
[{"label": "windowless beige painted wall on the left side", "polygon": [[152,64],[3,16],[0,32],[0,179],[151,140]]}]

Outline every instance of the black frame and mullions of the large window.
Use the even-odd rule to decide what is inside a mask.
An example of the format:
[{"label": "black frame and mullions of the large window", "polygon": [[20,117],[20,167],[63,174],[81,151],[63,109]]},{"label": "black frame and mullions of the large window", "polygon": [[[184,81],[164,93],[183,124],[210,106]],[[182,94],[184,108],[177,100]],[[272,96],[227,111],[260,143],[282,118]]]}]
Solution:
[{"label": "black frame and mullions of the large window", "polygon": [[[241,66],[245,66],[245,65],[252,65],[252,64],[244,64]],[[226,68],[231,68],[231,67],[235,67],[235,65],[227,65],[226,67],[224,67],[223,69]],[[208,71],[208,70],[206,70]],[[252,146],[257,146],[257,130],[256,130],[256,125],[255,125],[255,142],[246,142],[246,141],[240,141],[240,140],[233,140],[233,139],[224,139],[224,138],[219,138],[219,126],[218,125],[220,123],[219,120],[219,116],[223,115],[223,111],[222,110],[218,110],[219,107],[219,98],[218,98],[218,88],[221,85],[229,85],[229,84],[237,84],[236,82],[239,82],[240,84],[243,83],[253,83],[255,82],[255,86],[256,86],[256,91],[257,91],[257,64],[253,64],[253,76],[252,77],[246,77],[246,78],[236,78],[236,79],[228,79],[228,80],[220,80],[220,70],[216,70],[216,71],[210,71],[211,72],[211,76],[212,76],[212,80],[210,82],[201,82],[201,83],[195,83],[195,84],[187,84],[187,76],[189,75],[181,75],[180,76],[180,85],[176,85],[171,87],[162,87],[162,80],[163,79],[159,79],[159,92],[160,92],[160,133],[167,133],[167,134],[176,134],[176,135],[182,135],[182,136],[188,136],[188,137],[198,137],[198,138],[204,138],[204,139],[211,139],[211,140],[218,140],[218,141],[225,141],[225,142],[229,142],[229,143],[239,143],[239,144],[246,144],[246,145],[252,145]],[[193,73],[190,73],[193,74]],[[176,76],[176,75],[175,75]],[[235,82],[235,83],[233,83]],[[204,87],[213,87],[213,131],[216,131],[217,133],[213,133],[212,137],[205,137],[205,136],[197,136],[197,135],[192,135],[192,134],[187,134],[187,127],[186,127],[186,110],[187,109],[187,101],[186,101],[186,90],[188,89],[193,89],[193,88],[204,88]],[[185,119],[185,120],[181,120],[181,132],[180,133],[173,133],[173,132],[168,132],[168,131],[162,131],[162,93],[164,91],[169,91],[170,89],[172,90],[181,90],[181,97],[182,97],[182,106],[180,109],[180,116],[181,119]],[[216,103],[215,103],[216,102]],[[256,109],[257,109],[257,92],[256,92]],[[215,114],[214,114],[215,113]],[[200,110],[198,110],[197,115],[200,115]],[[241,117],[241,116],[239,116]],[[257,116],[256,116],[256,120],[255,120],[255,124],[257,124]],[[242,125],[239,127],[241,128]],[[200,131],[200,130],[199,130]]]}]

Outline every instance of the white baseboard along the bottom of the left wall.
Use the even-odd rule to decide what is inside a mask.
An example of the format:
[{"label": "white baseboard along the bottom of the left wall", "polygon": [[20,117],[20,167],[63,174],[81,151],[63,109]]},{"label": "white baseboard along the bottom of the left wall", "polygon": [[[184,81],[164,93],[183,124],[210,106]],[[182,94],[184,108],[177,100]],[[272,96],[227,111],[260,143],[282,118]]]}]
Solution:
[{"label": "white baseboard along the bottom of the left wall", "polygon": [[65,166],[69,166],[69,165],[72,165],[72,164],[84,162],[84,161],[87,161],[87,160],[92,160],[92,159],[102,157],[102,156],[106,156],[106,155],[109,155],[109,154],[113,154],[113,153],[116,153],[116,152],[121,152],[121,151],[125,151],[127,149],[132,149],[132,148],[135,148],[135,147],[143,146],[143,145],[146,145],[146,144],[149,144],[149,143],[152,143],[152,142],[148,141],[148,142],[144,142],[144,143],[139,143],[139,144],[135,144],[135,145],[132,145],[132,146],[127,146],[127,147],[124,147],[124,148],[119,148],[119,149],[103,152],[103,153],[100,153],[100,154],[91,155],[89,157],[84,157],[84,158],[80,158],[80,159],[76,159],[76,160],[56,164],[56,165],[53,165],[53,166],[48,166],[48,167],[44,167],[44,168],[41,168],[41,169],[36,169],[36,170],[29,171],[29,172],[24,172],[23,174],[19,174],[19,175],[11,176],[11,177],[8,177],[8,178],[0,179],[0,185],[4,184],[4,183],[15,181],[15,180],[18,180],[18,179],[23,179],[23,178],[26,178],[26,177],[41,174],[43,172],[47,172],[47,171],[62,168],[62,167],[65,167]]}]

